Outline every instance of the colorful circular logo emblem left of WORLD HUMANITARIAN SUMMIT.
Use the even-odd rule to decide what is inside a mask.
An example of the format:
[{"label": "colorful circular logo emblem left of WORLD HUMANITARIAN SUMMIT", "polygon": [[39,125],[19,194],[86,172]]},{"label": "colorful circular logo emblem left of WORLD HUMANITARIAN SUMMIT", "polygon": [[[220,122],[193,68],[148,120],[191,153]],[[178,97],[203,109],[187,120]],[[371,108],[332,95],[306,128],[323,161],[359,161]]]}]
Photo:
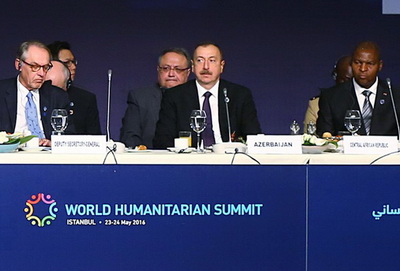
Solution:
[{"label": "colorful circular logo emblem left of WORLD HUMANITARIAN SUMMIT", "polygon": [[[43,193],[32,195],[31,199],[26,201],[27,207],[24,209],[24,212],[27,213],[26,219],[31,221],[32,225],[37,225],[38,227],[50,225],[51,221],[54,221],[57,217],[55,214],[58,212],[56,205],[57,202],[51,199],[51,195]],[[43,215],[37,214],[39,211]]]}]

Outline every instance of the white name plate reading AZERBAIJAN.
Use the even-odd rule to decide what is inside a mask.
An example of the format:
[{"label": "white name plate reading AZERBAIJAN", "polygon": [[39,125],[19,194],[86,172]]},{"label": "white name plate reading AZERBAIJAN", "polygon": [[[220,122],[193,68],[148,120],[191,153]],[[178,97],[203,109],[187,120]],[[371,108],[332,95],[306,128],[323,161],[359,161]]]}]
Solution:
[{"label": "white name plate reading AZERBAIJAN", "polygon": [[302,135],[249,135],[247,152],[254,154],[302,154]]}]

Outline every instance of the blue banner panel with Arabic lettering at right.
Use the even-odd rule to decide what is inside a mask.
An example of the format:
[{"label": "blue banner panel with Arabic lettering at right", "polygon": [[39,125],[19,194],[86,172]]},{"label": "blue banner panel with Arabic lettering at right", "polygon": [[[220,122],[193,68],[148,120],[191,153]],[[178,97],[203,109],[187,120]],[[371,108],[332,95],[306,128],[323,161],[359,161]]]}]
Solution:
[{"label": "blue banner panel with Arabic lettering at right", "polygon": [[400,270],[400,167],[309,167],[309,271]]}]

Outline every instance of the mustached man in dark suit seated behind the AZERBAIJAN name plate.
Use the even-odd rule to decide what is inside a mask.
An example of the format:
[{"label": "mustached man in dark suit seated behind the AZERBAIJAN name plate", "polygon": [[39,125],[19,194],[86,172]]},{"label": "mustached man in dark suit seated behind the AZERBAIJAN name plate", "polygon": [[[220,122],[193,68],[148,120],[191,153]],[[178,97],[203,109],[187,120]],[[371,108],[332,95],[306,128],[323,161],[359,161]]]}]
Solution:
[{"label": "mustached man in dark suit seated behind the AZERBAIJAN name plate", "polygon": [[[155,148],[174,145],[179,131],[190,131],[190,114],[194,109],[209,109],[210,135],[205,146],[229,141],[224,89],[229,97],[231,131],[236,137],[261,133],[257,110],[248,88],[220,79],[225,61],[220,47],[214,43],[199,44],[192,60],[196,80],[168,90],[162,99],[160,118],[154,138]],[[208,103],[208,104],[207,104]],[[200,107],[202,105],[202,107]],[[193,145],[197,138],[192,132]],[[205,137],[204,137],[205,138]]]}]

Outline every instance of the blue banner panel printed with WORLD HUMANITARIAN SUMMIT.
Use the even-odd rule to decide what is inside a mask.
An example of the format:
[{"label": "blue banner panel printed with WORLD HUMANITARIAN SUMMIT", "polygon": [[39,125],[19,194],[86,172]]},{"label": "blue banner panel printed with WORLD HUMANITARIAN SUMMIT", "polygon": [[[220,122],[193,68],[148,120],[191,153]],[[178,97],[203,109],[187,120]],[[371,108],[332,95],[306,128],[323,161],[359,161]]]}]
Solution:
[{"label": "blue banner panel printed with WORLD HUMANITARIAN SUMMIT", "polygon": [[305,267],[305,166],[0,170],[4,270]]}]

